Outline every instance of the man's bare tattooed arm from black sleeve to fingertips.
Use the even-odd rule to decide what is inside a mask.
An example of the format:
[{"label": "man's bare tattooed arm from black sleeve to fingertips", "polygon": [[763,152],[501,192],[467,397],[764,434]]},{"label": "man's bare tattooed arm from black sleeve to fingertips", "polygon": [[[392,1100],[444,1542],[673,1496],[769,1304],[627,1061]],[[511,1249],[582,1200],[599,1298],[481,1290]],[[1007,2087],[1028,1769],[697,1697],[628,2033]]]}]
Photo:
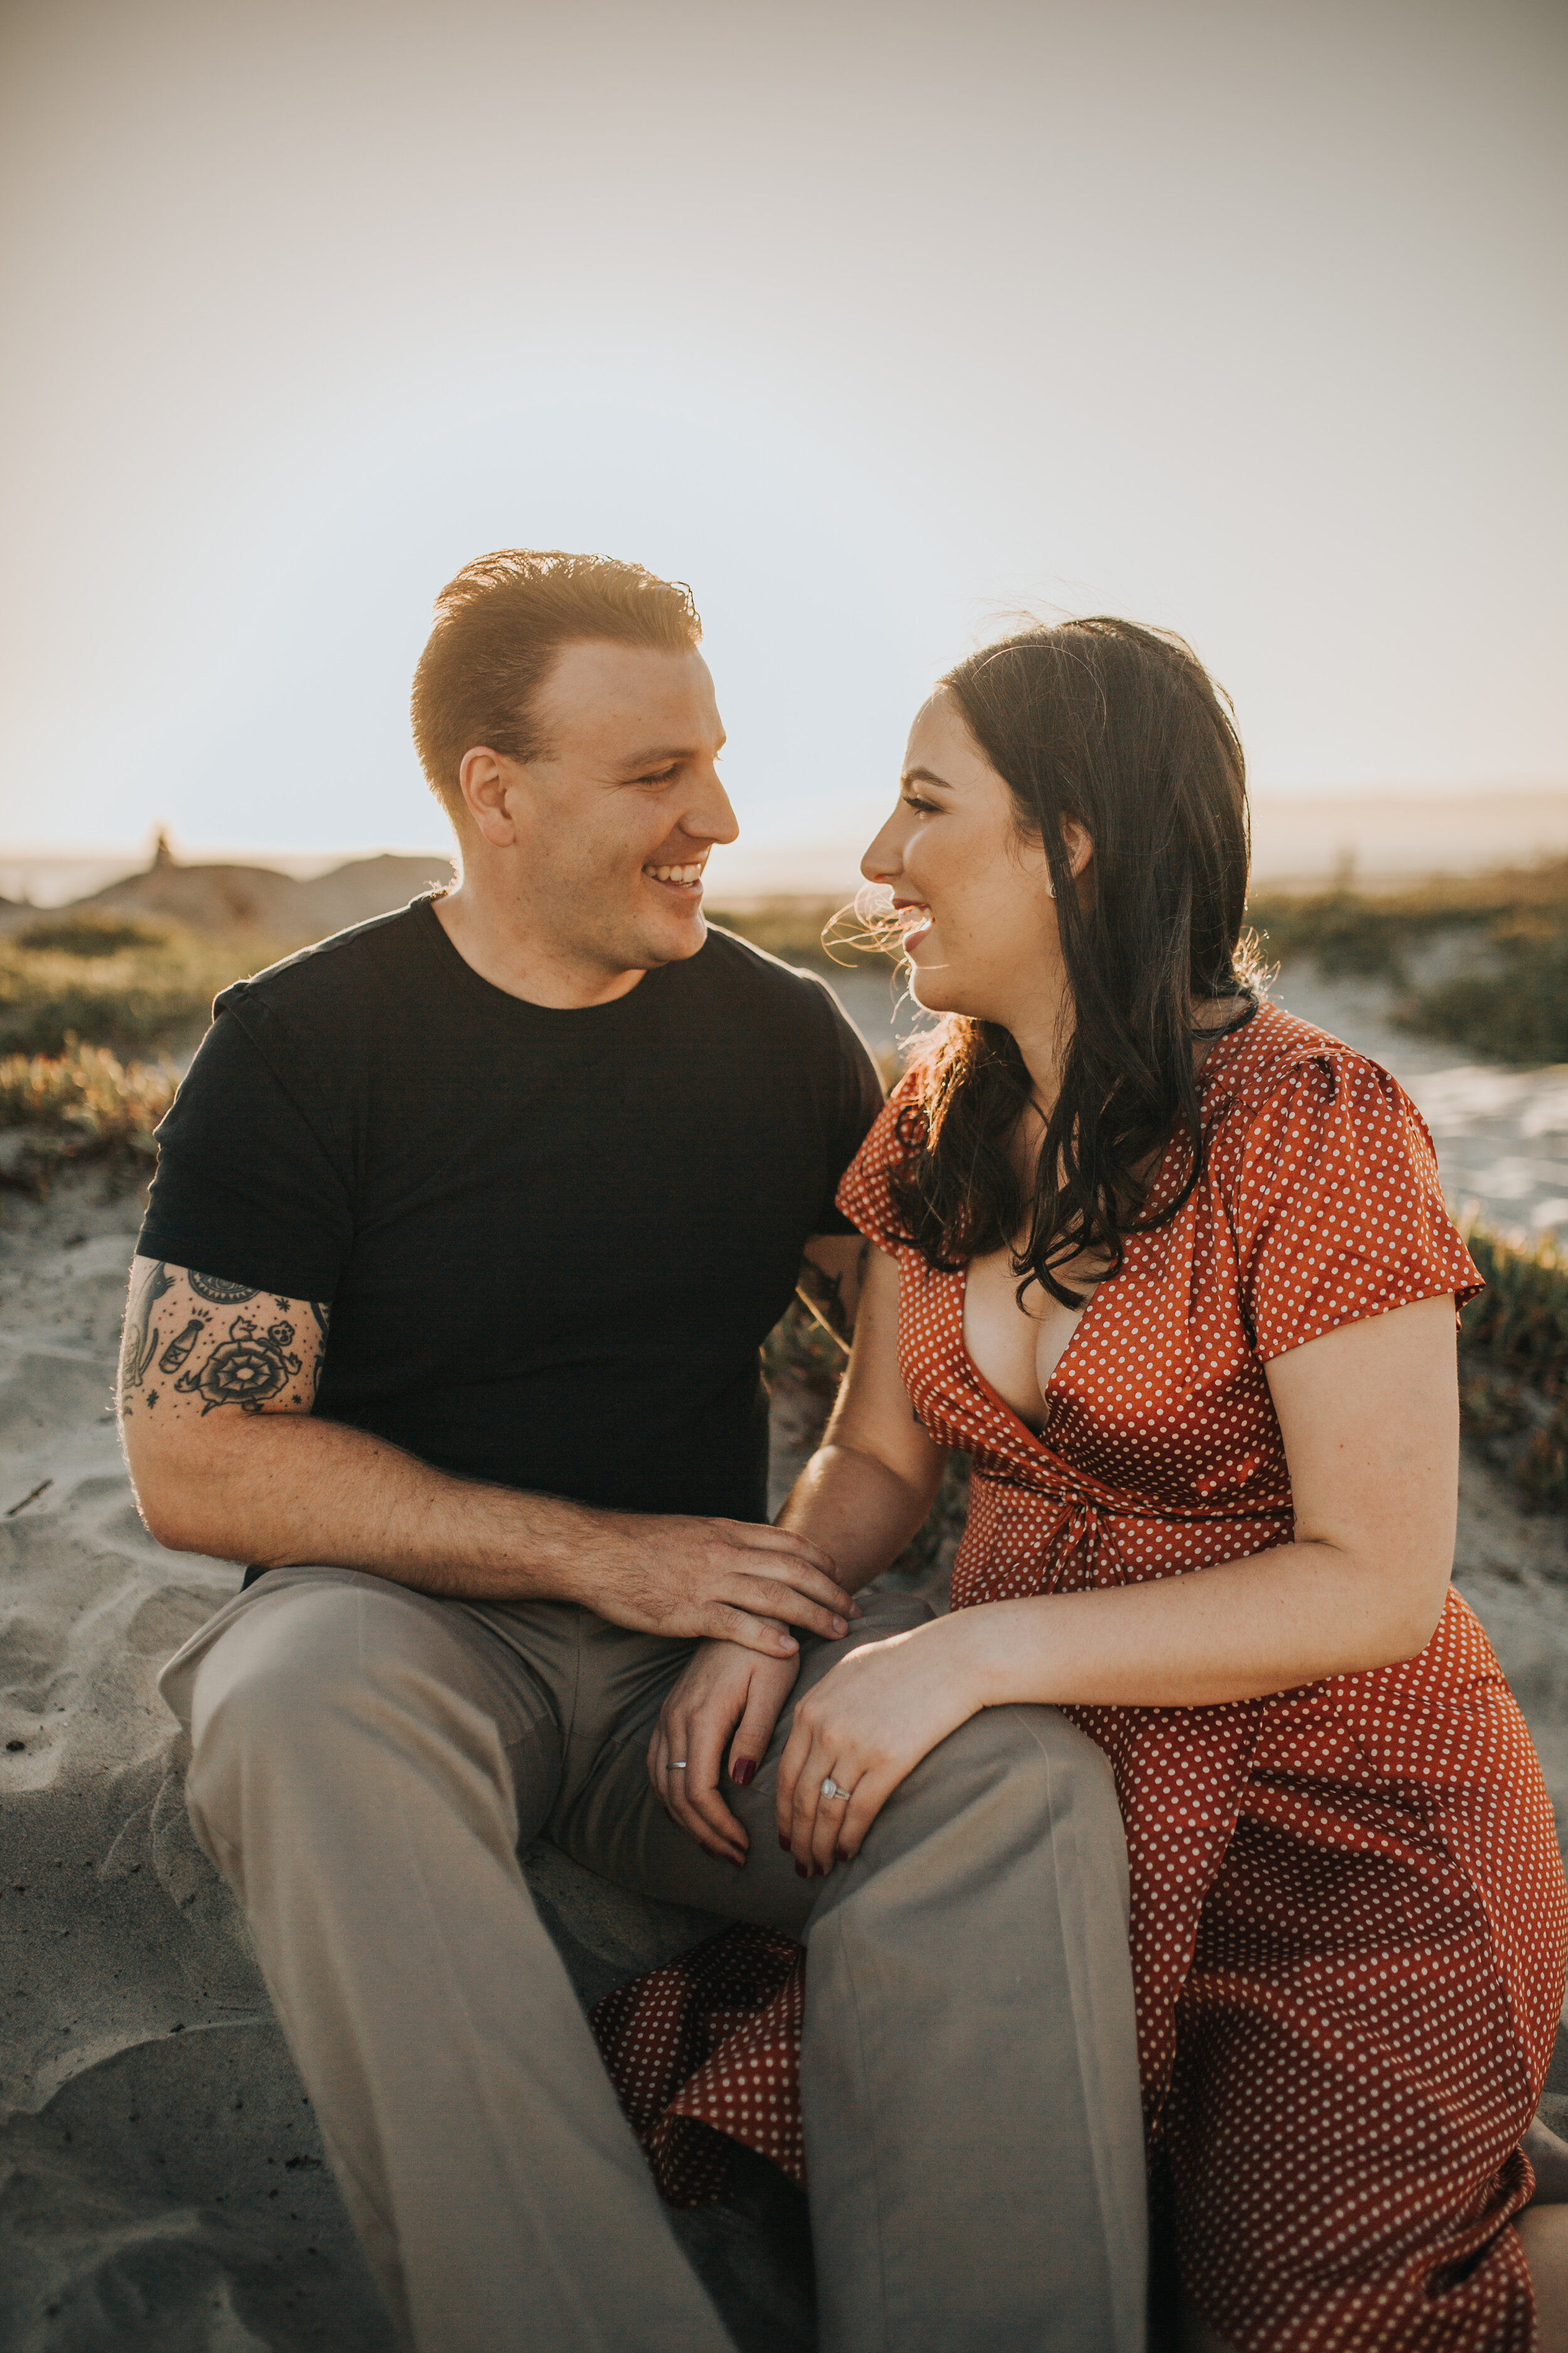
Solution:
[{"label": "man's bare tattooed arm from black sleeve to fingertips", "polygon": [[313,1412],[327,1306],[139,1257],[120,1435],[160,1544],[261,1567],[369,1569],[454,1600],[571,1600],[616,1626],[795,1652],[851,1600],[811,1539],[642,1515],[435,1471]]}]

